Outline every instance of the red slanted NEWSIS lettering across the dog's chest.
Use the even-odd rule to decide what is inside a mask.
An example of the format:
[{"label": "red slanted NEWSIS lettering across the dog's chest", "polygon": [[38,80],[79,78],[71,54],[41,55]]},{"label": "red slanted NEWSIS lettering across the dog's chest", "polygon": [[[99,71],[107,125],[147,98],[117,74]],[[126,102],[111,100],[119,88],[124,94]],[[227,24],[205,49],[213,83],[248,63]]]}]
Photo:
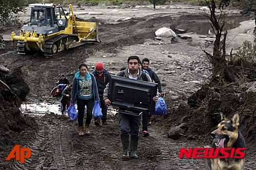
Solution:
[{"label": "red slanted NEWSIS lettering across the dog's chest", "polygon": [[246,148],[181,148],[179,158],[244,158]]}]

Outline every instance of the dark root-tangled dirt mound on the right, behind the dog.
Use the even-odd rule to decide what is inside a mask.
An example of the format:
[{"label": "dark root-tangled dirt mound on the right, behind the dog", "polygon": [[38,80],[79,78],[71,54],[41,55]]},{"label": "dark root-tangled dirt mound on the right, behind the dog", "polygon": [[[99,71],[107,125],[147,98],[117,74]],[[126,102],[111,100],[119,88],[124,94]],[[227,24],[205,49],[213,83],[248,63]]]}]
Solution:
[{"label": "dark root-tangled dirt mound on the right, behind the dog", "polygon": [[[251,66],[251,64],[248,65]],[[255,144],[256,82],[252,77],[256,72],[255,67],[248,72],[247,81],[243,84],[230,82],[233,79],[229,76],[225,77],[228,75],[227,69],[228,67],[223,69],[222,76],[213,78],[209,84],[204,84],[201,89],[191,95],[187,105],[180,105],[177,110],[166,115],[164,118],[167,120],[166,124],[186,123],[189,127],[188,134],[203,136],[205,142],[209,143],[210,132],[220,123],[220,113],[227,118],[232,118],[235,113],[239,113],[240,131],[246,143],[249,146]],[[233,70],[233,68],[229,69]]]}]

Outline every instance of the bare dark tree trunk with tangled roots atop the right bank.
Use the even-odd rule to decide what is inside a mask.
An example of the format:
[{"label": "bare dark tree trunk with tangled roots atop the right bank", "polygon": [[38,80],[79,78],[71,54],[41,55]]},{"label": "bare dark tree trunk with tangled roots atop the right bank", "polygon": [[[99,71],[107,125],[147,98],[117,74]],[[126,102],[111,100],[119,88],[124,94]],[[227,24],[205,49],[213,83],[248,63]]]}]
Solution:
[{"label": "bare dark tree trunk with tangled roots atop the right bank", "polygon": [[232,55],[236,54],[232,54],[232,50],[229,55],[229,60],[226,59],[226,57],[228,57],[226,55],[226,38],[228,30],[233,27],[233,24],[231,24],[233,21],[228,18],[227,13],[223,12],[222,9],[218,16],[215,14],[215,0],[210,0],[210,2],[205,0],[205,2],[209,7],[209,14],[205,14],[205,16],[210,21],[212,30],[216,35],[212,54],[203,50],[206,54],[206,58],[212,64],[212,81],[216,80],[224,84],[246,81],[247,75],[255,72],[253,63],[250,63],[243,58],[233,60]]}]

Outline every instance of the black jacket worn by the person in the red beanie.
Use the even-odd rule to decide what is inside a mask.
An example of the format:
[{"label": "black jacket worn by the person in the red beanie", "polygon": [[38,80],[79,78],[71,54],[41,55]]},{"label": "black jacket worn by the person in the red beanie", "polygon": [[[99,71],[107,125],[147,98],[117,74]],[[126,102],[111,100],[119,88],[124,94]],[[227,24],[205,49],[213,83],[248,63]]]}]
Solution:
[{"label": "black jacket worn by the person in the red beanie", "polygon": [[95,80],[97,82],[99,96],[103,97],[104,89],[106,88],[106,85],[110,82],[110,73],[109,71],[106,71],[105,69],[103,69],[103,73],[102,73],[103,75],[100,79],[99,79],[99,76],[97,75],[96,70],[94,70],[92,74],[94,75]]}]

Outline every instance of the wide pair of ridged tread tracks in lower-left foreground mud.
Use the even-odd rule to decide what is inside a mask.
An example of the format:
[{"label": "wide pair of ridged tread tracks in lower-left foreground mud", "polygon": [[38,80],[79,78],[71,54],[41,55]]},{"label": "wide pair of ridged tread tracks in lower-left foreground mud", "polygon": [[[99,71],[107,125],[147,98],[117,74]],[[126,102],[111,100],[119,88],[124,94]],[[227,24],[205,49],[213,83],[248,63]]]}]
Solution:
[{"label": "wide pair of ridged tread tracks in lower-left foreground mud", "polygon": [[31,149],[31,157],[25,163],[12,161],[11,169],[77,169],[76,159],[71,150],[72,133],[69,126],[54,118],[53,121],[38,122],[38,129],[26,147]]}]

